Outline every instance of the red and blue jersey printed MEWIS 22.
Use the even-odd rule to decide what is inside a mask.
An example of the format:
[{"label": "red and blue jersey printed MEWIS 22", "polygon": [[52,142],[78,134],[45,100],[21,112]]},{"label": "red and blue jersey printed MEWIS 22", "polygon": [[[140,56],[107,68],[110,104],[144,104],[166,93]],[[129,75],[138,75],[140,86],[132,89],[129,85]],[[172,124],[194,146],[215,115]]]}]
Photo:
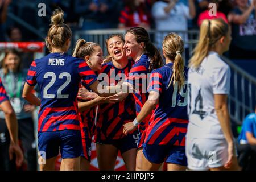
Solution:
[{"label": "red and blue jersey printed MEWIS 22", "polygon": [[38,131],[80,130],[77,92],[81,78],[88,86],[97,80],[84,60],[67,53],[49,53],[32,62],[26,82],[40,89]]}]

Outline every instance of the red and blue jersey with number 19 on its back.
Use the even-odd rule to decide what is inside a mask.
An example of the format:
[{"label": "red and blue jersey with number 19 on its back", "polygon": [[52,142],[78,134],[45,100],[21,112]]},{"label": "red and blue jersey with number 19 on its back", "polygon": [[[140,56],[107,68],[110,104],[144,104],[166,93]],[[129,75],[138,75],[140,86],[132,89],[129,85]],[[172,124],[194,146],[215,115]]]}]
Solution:
[{"label": "red and blue jersey with number 19 on its back", "polygon": [[187,68],[185,84],[180,92],[177,84],[168,87],[172,75],[172,63],[159,69],[154,69],[150,77],[148,92],[160,94],[159,104],[150,118],[150,125],[146,129],[146,144],[172,144],[184,146],[187,133]]}]

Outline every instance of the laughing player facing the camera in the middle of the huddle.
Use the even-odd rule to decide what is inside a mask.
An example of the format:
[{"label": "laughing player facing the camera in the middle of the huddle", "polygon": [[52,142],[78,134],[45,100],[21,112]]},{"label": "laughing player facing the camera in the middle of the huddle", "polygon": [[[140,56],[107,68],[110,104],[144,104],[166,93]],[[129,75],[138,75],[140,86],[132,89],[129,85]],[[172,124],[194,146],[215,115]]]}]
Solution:
[{"label": "laughing player facing the camera in the middle of the huddle", "polygon": [[[120,78],[128,77],[134,64],[133,60],[127,59],[124,44],[121,35],[112,35],[106,39],[109,58],[99,73],[108,75],[108,79],[104,80],[107,85],[117,85]],[[118,151],[121,152],[127,170],[135,170],[138,131],[127,136],[122,132],[123,125],[136,117],[135,102],[133,96],[126,94],[125,97],[115,104],[98,105],[95,139],[100,170],[114,170]]]}]

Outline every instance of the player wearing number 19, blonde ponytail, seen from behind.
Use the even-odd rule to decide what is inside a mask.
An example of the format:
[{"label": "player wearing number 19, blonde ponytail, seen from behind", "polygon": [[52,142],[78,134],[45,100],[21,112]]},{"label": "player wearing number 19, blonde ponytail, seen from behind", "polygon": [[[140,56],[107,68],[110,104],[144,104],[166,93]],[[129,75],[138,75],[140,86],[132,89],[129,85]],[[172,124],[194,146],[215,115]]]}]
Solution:
[{"label": "player wearing number 19, blonde ponytail, seen from behind", "polygon": [[185,134],[187,116],[187,69],[181,53],[184,43],[180,36],[168,34],[163,40],[163,56],[166,65],[154,69],[147,92],[148,100],[133,123],[125,125],[127,134],[154,110],[144,138],[141,155],[142,170],[158,170],[165,161],[168,170],[184,170]]}]

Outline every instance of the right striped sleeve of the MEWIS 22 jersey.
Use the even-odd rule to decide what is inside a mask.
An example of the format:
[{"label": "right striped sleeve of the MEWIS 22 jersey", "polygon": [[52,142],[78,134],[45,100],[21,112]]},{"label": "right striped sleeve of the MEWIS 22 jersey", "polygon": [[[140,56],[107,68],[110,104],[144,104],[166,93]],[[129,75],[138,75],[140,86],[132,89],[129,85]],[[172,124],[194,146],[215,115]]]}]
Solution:
[{"label": "right striped sleeve of the MEWIS 22 jersey", "polygon": [[84,60],[81,60],[79,63],[79,76],[82,78],[82,85],[84,86],[90,86],[97,81],[96,73],[90,69],[89,65],[85,63]]}]

